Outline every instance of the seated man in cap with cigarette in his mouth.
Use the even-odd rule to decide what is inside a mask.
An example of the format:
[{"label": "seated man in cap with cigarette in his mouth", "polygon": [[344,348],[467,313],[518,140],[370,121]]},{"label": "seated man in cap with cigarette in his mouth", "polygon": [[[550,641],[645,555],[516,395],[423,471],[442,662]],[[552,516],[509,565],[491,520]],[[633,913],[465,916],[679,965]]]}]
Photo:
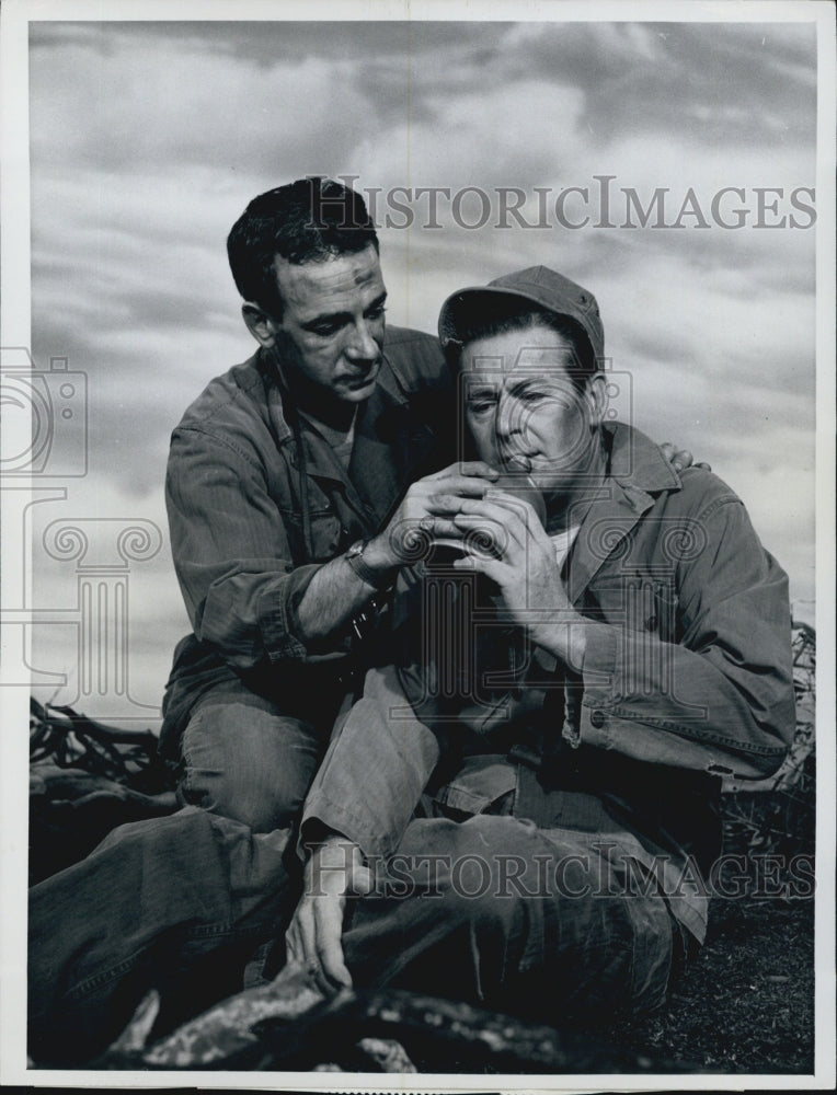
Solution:
[{"label": "seated man in cap with cigarette in his mouth", "polygon": [[606,423],[593,293],[521,270],[439,333],[504,480],[432,499],[444,554],[400,580],[394,662],[306,800],[288,954],[324,991],[654,1008],[704,937],[721,777],[793,734],[787,579],[721,480]]}]

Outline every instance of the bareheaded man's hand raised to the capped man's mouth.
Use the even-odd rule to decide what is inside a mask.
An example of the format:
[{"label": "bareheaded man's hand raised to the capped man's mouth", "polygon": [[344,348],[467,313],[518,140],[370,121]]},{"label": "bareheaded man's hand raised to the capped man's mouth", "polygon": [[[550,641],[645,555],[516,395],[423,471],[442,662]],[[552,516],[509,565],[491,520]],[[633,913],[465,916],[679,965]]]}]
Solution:
[{"label": "bareheaded man's hand raised to the capped man's mouth", "polygon": [[[386,572],[416,562],[431,539],[462,539],[462,530],[447,516],[439,514],[439,500],[451,497],[482,498],[500,476],[482,460],[457,461],[440,472],[416,480],[404,495],[389,525],[369,541],[364,561],[375,569]],[[447,508],[443,504],[443,509]]]}]

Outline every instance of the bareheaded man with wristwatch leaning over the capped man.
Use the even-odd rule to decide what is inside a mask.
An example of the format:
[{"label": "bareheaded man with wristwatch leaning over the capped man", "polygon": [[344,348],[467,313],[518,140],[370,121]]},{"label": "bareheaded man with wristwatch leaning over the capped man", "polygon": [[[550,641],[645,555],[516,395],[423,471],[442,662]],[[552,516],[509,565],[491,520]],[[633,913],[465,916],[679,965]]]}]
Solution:
[{"label": "bareheaded man with wristwatch leaning over the capped man", "polygon": [[[230,231],[255,354],[172,435],[167,507],[193,632],[177,646],[161,749],[182,803],[288,826],[427,516],[427,472],[456,463],[450,377],[429,335],[385,323],[375,224],[359,194],[309,177],[255,197]],[[440,470],[442,469],[442,470]],[[406,495],[405,495],[406,493]],[[394,512],[393,512],[394,511]]]}]

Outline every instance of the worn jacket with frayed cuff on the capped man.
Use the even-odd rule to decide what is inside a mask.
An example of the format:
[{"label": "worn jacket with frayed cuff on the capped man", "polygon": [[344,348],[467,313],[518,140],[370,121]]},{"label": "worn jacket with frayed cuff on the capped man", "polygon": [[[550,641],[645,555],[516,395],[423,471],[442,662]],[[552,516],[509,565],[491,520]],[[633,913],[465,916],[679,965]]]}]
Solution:
[{"label": "worn jacket with frayed cuff on the capped man", "polygon": [[[395,668],[367,677],[309,792],[303,837],[317,819],[388,856],[428,792],[447,816],[619,834],[647,866],[663,857],[669,879],[690,856],[711,868],[720,776],[773,772],[793,735],[787,577],[720,479],[678,475],[629,427],[606,438],[608,474],[564,564],[573,603],[608,625],[591,627],[582,673],[521,653],[519,632],[504,647],[483,614],[477,669],[446,694],[444,659],[427,665],[408,643]],[[402,598],[432,603],[428,581]],[[700,887],[670,903],[701,938]]]}]

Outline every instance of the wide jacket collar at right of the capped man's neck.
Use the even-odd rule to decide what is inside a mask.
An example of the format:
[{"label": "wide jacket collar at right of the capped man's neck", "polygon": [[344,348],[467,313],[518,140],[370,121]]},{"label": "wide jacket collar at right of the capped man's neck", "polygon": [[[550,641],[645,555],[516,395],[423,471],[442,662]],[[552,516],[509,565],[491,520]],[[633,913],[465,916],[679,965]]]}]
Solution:
[{"label": "wide jacket collar at right of the capped man's neck", "polygon": [[619,550],[655,495],[679,491],[680,476],[656,445],[622,423],[604,426],[608,470],[567,561],[567,595],[577,604],[603,563]]}]

